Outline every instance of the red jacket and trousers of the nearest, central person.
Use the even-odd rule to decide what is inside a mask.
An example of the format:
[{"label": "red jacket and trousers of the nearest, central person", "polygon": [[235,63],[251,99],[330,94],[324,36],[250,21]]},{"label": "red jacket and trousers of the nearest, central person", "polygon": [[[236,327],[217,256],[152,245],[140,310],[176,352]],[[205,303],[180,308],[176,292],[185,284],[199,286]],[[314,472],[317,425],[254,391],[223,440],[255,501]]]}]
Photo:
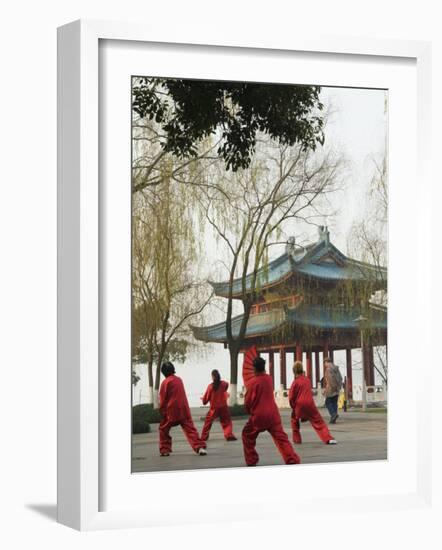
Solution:
[{"label": "red jacket and trousers of the nearest, central person", "polygon": [[264,431],[270,433],[286,464],[299,464],[301,459],[294,451],[282,427],[281,415],[273,397],[273,382],[270,375],[265,372],[255,375],[247,389],[245,406],[250,413],[250,418],[242,431],[247,466],[258,463],[256,439]]}]

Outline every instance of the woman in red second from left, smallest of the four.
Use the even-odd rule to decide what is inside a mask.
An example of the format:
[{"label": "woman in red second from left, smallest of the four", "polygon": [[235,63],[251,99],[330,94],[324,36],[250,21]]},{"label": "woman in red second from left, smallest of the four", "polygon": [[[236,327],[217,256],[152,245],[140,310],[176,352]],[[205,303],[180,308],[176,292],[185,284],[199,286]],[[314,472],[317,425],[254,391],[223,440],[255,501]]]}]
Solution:
[{"label": "woman in red second from left, smallest of the four", "polygon": [[232,419],[230,418],[229,407],[227,406],[227,388],[229,384],[221,380],[221,376],[216,369],[212,371],[212,380],[213,382],[207,386],[206,393],[201,397],[203,405],[210,403],[210,409],[204,422],[203,431],[201,432],[201,439],[203,441],[209,439],[213,421],[219,418],[225,439],[227,441],[236,441],[236,437],[232,431]]}]

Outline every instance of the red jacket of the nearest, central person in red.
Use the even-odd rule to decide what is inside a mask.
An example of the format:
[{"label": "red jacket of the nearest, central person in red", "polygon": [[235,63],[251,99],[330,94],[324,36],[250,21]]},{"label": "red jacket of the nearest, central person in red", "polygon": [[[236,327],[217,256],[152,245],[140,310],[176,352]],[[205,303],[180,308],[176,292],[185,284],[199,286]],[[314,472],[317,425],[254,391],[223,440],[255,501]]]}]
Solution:
[{"label": "red jacket of the nearest, central person in red", "polygon": [[273,395],[272,377],[265,372],[256,374],[247,388],[244,405],[257,429],[267,429],[281,422]]}]

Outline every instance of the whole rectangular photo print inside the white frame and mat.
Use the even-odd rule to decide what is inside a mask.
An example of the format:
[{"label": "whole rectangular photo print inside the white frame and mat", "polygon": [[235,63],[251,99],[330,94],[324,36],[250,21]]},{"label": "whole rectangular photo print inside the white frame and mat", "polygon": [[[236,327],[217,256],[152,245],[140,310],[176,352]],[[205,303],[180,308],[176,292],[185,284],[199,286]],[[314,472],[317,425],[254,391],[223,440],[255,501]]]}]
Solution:
[{"label": "whole rectangular photo print inside the white frame and mat", "polygon": [[386,460],[388,91],[131,99],[132,472]]}]

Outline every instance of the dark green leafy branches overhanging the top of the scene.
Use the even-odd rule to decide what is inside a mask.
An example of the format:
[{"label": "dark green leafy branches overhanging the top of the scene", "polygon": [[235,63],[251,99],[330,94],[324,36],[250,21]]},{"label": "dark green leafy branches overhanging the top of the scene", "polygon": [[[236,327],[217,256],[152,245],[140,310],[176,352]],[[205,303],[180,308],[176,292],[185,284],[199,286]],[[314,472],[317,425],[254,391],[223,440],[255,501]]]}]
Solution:
[{"label": "dark green leafy branches overhanging the top of the scene", "polygon": [[324,142],[319,86],[140,77],[132,92],[135,113],[161,125],[163,149],[179,158],[196,157],[217,131],[232,171],[250,165],[257,132],[304,149]]}]

